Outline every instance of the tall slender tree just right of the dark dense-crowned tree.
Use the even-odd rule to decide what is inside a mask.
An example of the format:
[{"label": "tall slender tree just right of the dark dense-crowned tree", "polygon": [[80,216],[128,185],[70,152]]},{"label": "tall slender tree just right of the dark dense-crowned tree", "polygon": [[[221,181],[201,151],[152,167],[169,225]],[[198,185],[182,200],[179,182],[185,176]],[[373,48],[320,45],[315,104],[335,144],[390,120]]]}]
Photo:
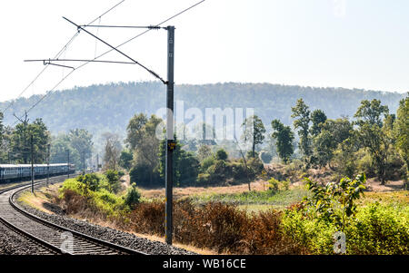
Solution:
[{"label": "tall slender tree just right of the dark dense-crowned tree", "polygon": [[304,103],[303,99],[299,99],[294,107],[292,107],[294,120],[294,128],[299,129],[300,149],[303,152],[304,159],[308,159],[312,153],[311,138],[309,136],[309,124],[311,122],[309,107]]}]

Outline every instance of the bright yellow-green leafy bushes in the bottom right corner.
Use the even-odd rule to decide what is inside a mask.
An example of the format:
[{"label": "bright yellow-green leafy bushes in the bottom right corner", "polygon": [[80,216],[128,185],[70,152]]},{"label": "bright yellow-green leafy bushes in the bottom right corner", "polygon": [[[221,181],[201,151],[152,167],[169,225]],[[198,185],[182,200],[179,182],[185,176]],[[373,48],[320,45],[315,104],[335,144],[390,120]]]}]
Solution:
[{"label": "bright yellow-green leafy bushes in the bottom right corner", "polygon": [[[348,255],[408,255],[409,210],[372,204],[361,208],[354,221],[345,226]],[[284,232],[311,254],[334,254],[333,236],[339,229],[314,212],[286,210]]]}]

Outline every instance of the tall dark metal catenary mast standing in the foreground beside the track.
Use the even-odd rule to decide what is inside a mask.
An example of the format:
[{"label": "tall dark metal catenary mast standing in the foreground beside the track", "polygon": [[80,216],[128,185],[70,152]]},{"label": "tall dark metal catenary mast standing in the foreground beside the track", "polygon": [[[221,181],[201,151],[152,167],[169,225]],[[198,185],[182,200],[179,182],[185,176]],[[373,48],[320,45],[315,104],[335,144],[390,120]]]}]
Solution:
[{"label": "tall dark metal catenary mast standing in the foreground beside the track", "polygon": [[166,208],[165,208],[165,241],[166,244],[172,245],[173,238],[173,153],[175,150],[174,141],[174,68],[175,68],[175,26],[167,28],[167,83],[166,83],[166,164],[165,164],[165,181],[166,181]]}]

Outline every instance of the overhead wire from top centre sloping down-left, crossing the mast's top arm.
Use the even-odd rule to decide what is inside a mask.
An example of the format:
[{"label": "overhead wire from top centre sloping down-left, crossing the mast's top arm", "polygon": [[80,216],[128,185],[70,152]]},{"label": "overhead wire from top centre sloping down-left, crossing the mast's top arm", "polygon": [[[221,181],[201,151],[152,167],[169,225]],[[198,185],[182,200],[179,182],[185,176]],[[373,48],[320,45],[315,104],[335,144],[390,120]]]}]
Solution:
[{"label": "overhead wire from top centre sloping down-left, crossing the mast's top arm", "polygon": [[[125,0],[124,0],[124,1],[125,1]],[[123,2],[124,2],[124,1],[123,1]],[[194,8],[196,5],[200,5],[200,4],[204,3],[204,2],[205,2],[205,0],[202,0],[202,1],[197,2],[195,5],[191,5],[191,6],[187,7],[187,8],[185,8],[183,11],[181,11],[181,12],[177,13],[176,15],[173,15],[173,16],[171,16],[171,17],[165,19],[165,20],[162,21],[161,23],[155,24],[155,27],[158,27],[158,26],[160,26],[161,24],[165,24],[166,22],[168,22],[168,21],[174,19],[175,17],[177,17],[177,16],[179,16],[179,15],[182,15],[182,14],[184,14],[185,12],[191,10],[191,9]],[[122,3],[122,2],[121,2],[121,3]],[[98,18],[99,18],[99,17],[98,17]],[[95,21],[96,21],[96,20],[97,20],[97,19],[95,19]],[[91,24],[92,24],[92,23],[91,23]],[[132,38],[126,40],[124,43],[115,46],[115,48],[117,49],[117,48],[119,48],[119,47],[121,47],[121,46],[123,46],[123,45],[125,45],[125,44],[128,44],[128,43],[134,41],[136,38],[138,38],[138,37],[140,37],[140,36],[142,36],[142,35],[148,33],[148,32],[151,31],[152,29],[153,29],[153,28],[149,28],[149,29],[145,30],[145,32],[142,32],[141,34],[135,35],[134,37],[132,37]],[[53,89],[51,89],[49,92],[45,93],[45,95],[44,95],[40,100],[38,100],[38,102],[35,102],[35,104],[33,104],[33,106],[31,106],[31,107],[28,109],[27,112],[30,112],[31,110],[33,110],[33,109],[34,109],[40,102],[42,102],[48,95],[54,93],[54,92],[55,92],[55,89],[59,86],[59,84],[63,83],[63,82],[65,81],[65,79],[66,79],[68,76],[70,76],[72,73],[74,73],[76,70],[78,70],[78,69],[84,67],[84,66],[85,66],[86,64],[88,64],[88,63],[92,63],[93,61],[95,61],[95,60],[101,58],[102,56],[105,56],[105,54],[109,54],[109,53],[111,53],[111,52],[113,52],[113,51],[114,51],[114,48],[112,48],[112,49],[106,51],[104,54],[100,54],[100,55],[96,56],[93,60],[89,60],[89,61],[87,61],[87,62],[85,62],[85,63],[83,63],[83,64],[81,64],[81,65],[75,67],[75,69],[72,70],[70,73],[66,74],[65,77],[64,77],[60,82],[58,82]]]}]

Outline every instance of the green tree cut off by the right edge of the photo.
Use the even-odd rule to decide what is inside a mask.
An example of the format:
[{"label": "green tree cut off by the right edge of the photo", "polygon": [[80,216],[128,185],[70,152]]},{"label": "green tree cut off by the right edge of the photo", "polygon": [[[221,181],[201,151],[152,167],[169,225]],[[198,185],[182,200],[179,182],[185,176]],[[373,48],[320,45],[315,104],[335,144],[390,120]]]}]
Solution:
[{"label": "green tree cut off by the right edge of the photo", "polygon": [[394,122],[395,146],[406,165],[406,180],[409,174],[409,97],[399,103]]}]

